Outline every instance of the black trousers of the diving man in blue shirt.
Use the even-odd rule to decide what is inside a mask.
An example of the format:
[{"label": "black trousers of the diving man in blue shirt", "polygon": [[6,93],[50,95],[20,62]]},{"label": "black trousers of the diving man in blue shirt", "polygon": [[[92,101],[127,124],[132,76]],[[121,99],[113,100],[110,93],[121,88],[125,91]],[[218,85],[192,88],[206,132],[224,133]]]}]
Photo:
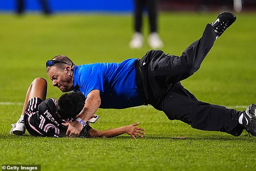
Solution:
[{"label": "black trousers of the diving man in blue shirt", "polygon": [[243,131],[238,123],[240,111],[201,102],[179,82],[199,69],[215,40],[216,33],[208,24],[202,38],[193,42],[181,56],[166,55],[160,50],[147,52],[139,67],[143,96],[170,120],[183,121],[195,129],[239,136]]}]

